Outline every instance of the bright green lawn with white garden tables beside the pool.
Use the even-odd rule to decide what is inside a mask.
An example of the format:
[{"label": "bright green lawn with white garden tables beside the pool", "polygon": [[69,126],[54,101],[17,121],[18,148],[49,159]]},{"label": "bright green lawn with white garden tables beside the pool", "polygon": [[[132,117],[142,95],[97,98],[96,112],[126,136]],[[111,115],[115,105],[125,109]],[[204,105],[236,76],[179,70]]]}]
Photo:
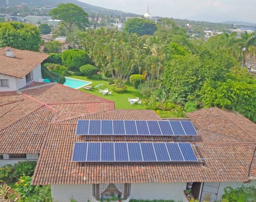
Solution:
[{"label": "bright green lawn with white garden tables beside the pool", "polygon": [[[90,86],[104,83],[104,85],[103,85],[103,87],[101,87],[101,89],[104,90],[105,88],[108,88],[108,90],[111,91],[111,87],[108,85],[108,81],[103,81],[103,80],[99,79],[99,74],[94,74],[91,78],[87,78],[85,76],[72,76],[72,75],[65,75],[65,76],[70,77],[70,78],[81,79],[81,80],[85,80],[85,81],[91,81],[92,84],[90,84]],[[93,88],[91,90],[85,90],[83,88],[80,88],[79,90],[85,91],[86,93],[90,93],[93,95],[97,95],[97,96],[105,98],[107,100],[114,101],[116,109],[145,109],[143,102],[141,103],[141,105],[137,105],[137,104],[130,105],[130,103],[128,102],[128,97],[130,97],[132,99],[139,97],[141,100],[142,95],[136,89],[132,88],[131,84],[129,82],[127,82],[125,85],[127,86],[127,91],[125,93],[119,94],[119,93],[112,92],[111,96],[110,95],[102,95],[101,93],[99,93],[98,88],[97,89]]]}]

